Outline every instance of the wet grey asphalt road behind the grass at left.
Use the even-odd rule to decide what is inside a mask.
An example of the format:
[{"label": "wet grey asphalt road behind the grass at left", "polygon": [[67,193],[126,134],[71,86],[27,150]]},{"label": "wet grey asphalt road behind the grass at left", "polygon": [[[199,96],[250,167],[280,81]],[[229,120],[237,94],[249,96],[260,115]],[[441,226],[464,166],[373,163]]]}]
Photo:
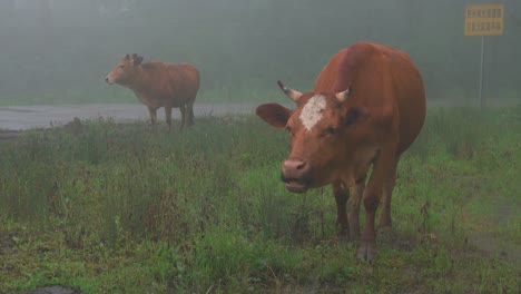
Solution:
[{"label": "wet grey asphalt road behind the grass at left", "polygon": [[[194,115],[225,116],[233,114],[253,114],[255,105],[212,105],[196,104]],[[11,106],[0,107],[0,130],[26,130],[33,128],[49,128],[80,119],[111,118],[118,122],[146,121],[149,119],[148,109],[140,104],[94,104],[94,105],[57,105],[57,106]],[[165,110],[157,110],[159,124],[165,124]],[[180,119],[178,108],[173,110],[173,118]]]}]

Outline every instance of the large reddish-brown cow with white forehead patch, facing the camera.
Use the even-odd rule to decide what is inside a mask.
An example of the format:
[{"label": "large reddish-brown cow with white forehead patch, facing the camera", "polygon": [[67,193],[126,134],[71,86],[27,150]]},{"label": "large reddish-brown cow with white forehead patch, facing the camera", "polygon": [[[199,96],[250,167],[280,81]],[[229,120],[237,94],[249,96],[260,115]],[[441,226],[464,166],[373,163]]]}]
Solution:
[{"label": "large reddish-brown cow with white forehead patch, facing the camera", "polygon": [[327,62],[312,92],[298,92],[281,81],[278,85],[296,102],[296,109],[265,104],[257,107],[256,114],[291,134],[292,150],[282,166],[286,188],[304,193],[332,184],[336,223],[342,234],[351,238],[360,233],[363,195],[366,217],[358,258],[373,259],[376,208],[383,200],[381,226],[391,228],[396,165],[425,119],[425,89],[420,71],[401,51],[360,42]]}]

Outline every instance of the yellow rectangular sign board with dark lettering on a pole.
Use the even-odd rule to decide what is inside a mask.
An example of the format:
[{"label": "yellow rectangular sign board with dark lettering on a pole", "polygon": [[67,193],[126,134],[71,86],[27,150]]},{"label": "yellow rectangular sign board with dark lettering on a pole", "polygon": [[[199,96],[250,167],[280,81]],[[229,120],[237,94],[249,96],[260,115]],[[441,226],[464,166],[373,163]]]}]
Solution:
[{"label": "yellow rectangular sign board with dark lettering on a pole", "polygon": [[472,4],[465,7],[465,36],[503,35],[504,4]]}]

